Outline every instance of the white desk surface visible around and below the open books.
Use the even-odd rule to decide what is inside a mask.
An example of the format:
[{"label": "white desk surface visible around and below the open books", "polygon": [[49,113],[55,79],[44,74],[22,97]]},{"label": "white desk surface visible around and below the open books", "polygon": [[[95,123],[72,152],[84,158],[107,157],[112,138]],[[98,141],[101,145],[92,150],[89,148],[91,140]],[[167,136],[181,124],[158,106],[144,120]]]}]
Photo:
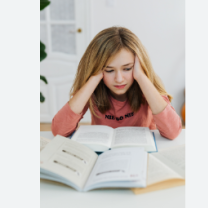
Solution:
[{"label": "white desk surface visible around and below the open books", "polygon": [[[156,137],[158,151],[163,148],[173,147],[185,143],[185,130],[174,140],[160,136],[158,130],[153,130]],[[40,135],[49,139],[53,138],[50,131],[42,131]],[[184,208],[185,186],[154,191],[146,194],[135,195],[130,189],[92,190],[78,192],[68,186],[50,181],[40,182],[40,207],[41,208]]]}]

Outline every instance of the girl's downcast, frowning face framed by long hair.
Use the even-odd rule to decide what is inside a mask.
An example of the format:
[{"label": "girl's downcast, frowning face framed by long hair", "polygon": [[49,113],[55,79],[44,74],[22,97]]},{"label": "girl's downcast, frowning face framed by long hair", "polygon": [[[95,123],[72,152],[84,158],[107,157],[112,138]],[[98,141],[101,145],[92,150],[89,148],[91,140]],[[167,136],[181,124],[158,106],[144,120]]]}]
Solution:
[{"label": "girl's downcast, frowning face framed by long hair", "polygon": [[108,59],[104,67],[104,84],[110,89],[112,96],[116,100],[126,100],[126,92],[134,82],[134,59],[132,52],[121,49]]}]

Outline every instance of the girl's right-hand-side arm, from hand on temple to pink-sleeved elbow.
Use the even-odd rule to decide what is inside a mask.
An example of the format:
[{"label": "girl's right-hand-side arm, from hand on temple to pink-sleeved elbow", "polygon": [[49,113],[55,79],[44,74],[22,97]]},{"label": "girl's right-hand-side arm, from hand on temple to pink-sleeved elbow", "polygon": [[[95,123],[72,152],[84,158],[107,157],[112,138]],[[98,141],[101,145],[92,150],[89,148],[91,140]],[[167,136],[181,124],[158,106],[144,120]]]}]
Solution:
[{"label": "girl's right-hand-side arm, from hand on temple to pink-sleeved elbow", "polygon": [[138,57],[135,57],[134,79],[138,82],[160,134],[168,139],[176,138],[181,132],[181,119],[166,96],[161,96],[152,82],[144,74]]}]

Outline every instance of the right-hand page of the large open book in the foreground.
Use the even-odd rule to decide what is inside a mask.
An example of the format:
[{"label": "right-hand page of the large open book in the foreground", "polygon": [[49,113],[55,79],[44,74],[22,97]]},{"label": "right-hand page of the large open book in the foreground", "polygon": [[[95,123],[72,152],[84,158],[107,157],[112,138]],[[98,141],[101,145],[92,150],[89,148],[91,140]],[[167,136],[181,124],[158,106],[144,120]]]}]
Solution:
[{"label": "right-hand page of the large open book in the foreground", "polygon": [[107,181],[146,180],[144,148],[119,148],[99,155],[85,187]]}]

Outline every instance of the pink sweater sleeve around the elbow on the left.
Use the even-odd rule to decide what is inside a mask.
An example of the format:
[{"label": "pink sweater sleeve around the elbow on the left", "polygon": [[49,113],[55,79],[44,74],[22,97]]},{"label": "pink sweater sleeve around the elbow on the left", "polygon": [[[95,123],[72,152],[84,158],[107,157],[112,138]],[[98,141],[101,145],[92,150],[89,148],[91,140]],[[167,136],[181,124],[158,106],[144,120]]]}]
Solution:
[{"label": "pink sweater sleeve around the elbow on the left", "polygon": [[77,128],[79,121],[88,109],[88,104],[80,114],[74,113],[68,102],[58,111],[52,120],[51,130],[54,136],[69,136]]}]

